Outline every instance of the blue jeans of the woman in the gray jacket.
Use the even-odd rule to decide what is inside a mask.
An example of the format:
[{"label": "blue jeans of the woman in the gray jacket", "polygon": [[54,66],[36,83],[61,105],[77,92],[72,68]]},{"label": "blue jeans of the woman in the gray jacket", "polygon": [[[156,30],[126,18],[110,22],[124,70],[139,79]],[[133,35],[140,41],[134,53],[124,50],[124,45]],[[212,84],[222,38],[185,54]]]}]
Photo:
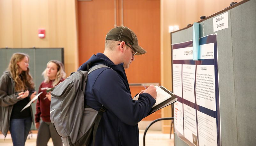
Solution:
[{"label": "blue jeans of the woman in the gray jacket", "polygon": [[31,128],[32,119],[11,119],[10,120],[10,133],[12,136],[13,146],[24,146],[27,140],[27,135]]}]

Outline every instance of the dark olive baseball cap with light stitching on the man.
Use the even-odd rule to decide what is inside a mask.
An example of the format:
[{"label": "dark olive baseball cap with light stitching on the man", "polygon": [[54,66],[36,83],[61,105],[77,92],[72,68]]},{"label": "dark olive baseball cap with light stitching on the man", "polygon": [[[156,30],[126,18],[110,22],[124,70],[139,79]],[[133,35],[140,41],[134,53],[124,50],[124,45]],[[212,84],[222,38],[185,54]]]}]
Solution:
[{"label": "dark olive baseball cap with light stitching on the man", "polygon": [[137,52],[136,55],[142,55],[147,52],[139,46],[136,34],[125,26],[117,26],[111,29],[107,33],[105,40],[124,41],[131,45],[132,49]]}]

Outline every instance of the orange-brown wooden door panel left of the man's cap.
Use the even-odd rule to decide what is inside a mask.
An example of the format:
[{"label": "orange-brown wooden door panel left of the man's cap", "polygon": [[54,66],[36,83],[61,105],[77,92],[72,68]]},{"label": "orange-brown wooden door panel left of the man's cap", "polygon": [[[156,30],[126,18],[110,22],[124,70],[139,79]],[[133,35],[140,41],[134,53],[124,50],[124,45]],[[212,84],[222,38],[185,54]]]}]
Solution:
[{"label": "orange-brown wooden door panel left of the man's cap", "polygon": [[114,0],[79,1],[79,65],[104,52],[105,36],[114,27]]}]

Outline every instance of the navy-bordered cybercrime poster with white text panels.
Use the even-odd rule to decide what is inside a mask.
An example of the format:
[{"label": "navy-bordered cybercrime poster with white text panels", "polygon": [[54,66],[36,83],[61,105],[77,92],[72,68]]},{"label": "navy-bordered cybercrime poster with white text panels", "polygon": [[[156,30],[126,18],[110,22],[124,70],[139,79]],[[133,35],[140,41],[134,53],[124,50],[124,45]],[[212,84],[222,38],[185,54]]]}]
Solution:
[{"label": "navy-bordered cybercrime poster with white text panels", "polygon": [[199,39],[199,60],[193,41],[172,44],[175,132],[191,146],[221,146],[217,35]]}]

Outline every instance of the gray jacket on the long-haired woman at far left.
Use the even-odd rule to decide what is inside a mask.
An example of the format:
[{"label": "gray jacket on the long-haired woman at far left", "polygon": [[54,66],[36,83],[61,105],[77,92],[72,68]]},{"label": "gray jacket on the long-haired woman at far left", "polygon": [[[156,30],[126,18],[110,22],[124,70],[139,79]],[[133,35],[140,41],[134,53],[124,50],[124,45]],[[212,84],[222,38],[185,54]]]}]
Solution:
[{"label": "gray jacket on the long-haired woman at far left", "polygon": [[[13,105],[22,100],[21,98],[16,99],[18,94],[15,94],[14,85],[15,82],[13,81],[10,72],[4,72],[0,78],[0,131],[2,131],[4,137],[10,128],[10,118]],[[30,111],[33,120],[31,106]]]}]

